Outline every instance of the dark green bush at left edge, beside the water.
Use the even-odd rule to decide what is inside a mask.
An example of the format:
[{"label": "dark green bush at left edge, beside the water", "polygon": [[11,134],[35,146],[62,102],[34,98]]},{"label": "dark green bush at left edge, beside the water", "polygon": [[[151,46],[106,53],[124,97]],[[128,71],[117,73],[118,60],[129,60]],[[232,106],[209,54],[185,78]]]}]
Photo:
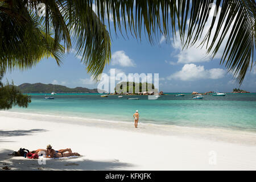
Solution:
[{"label": "dark green bush at left edge, beside the water", "polygon": [[11,107],[18,105],[19,107],[27,107],[31,102],[29,96],[23,95],[18,88],[13,85],[3,85],[1,80],[3,78],[3,71],[0,72],[0,110],[11,109]]}]

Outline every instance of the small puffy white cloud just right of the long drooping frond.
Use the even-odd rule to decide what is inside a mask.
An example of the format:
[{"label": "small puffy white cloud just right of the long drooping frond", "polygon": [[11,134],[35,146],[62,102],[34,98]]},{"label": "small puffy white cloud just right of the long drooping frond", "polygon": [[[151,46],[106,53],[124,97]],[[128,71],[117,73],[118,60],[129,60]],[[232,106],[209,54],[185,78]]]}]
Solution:
[{"label": "small puffy white cloud just right of the long drooping frond", "polygon": [[125,51],[116,51],[112,55],[112,65],[120,65],[121,67],[135,67],[133,60],[125,54]]}]

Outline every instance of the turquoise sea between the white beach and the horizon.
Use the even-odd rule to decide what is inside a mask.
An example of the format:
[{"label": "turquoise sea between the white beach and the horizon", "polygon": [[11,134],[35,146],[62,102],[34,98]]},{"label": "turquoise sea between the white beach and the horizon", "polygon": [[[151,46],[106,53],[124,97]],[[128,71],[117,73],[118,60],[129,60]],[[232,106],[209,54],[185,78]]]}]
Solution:
[{"label": "turquoise sea between the white beach and the horizon", "polygon": [[139,110],[143,123],[256,131],[254,93],[206,95],[203,100],[193,100],[190,93],[184,97],[170,93],[158,100],[147,100],[147,96],[102,98],[100,94],[57,94],[54,100],[44,100],[44,94],[29,95],[32,102],[27,109],[14,107],[10,111],[133,122],[133,114]]}]

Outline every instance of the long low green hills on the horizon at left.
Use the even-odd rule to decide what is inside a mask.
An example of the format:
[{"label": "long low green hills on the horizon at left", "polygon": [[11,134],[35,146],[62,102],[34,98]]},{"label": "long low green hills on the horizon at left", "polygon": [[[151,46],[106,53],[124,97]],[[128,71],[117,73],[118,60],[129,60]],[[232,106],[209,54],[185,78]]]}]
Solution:
[{"label": "long low green hills on the horizon at left", "polygon": [[[53,84],[21,84],[18,86],[22,93],[52,93]],[[88,89],[82,87],[68,88],[63,85],[54,85],[54,92],[56,93],[98,93],[97,89]]]}]

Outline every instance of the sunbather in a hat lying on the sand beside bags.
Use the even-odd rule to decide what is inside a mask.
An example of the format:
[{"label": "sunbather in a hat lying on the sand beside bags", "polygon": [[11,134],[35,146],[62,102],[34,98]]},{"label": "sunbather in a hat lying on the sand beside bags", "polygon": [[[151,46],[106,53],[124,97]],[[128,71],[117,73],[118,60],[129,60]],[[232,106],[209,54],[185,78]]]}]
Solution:
[{"label": "sunbather in a hat lying on the sand beside bags", "polygon": [[[46,158],[62,158],[62,157],[69,157],[69,156],[80,156],[77,152],[72,152],[71,148],[66,149],[60,149],[60,150],[53,150],[52,146],[48,144],[47,149],[38,149],[35,151],[32,151],[33,154],[39,154],[39,152],[45,152]],[[64,153],[68,152],[68,153]]]}]

